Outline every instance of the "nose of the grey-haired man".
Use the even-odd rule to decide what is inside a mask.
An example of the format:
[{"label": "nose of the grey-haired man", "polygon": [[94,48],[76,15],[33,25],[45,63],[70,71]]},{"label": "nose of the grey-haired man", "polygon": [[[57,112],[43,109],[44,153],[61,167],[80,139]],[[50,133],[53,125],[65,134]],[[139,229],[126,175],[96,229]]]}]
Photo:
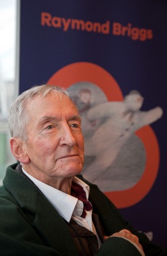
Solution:
[{"label": "nose of the grey-haired man", "polygon": [[68,125],[60,128],[60,145],[69,145],[70,147],[76,144],[76,140]]}]

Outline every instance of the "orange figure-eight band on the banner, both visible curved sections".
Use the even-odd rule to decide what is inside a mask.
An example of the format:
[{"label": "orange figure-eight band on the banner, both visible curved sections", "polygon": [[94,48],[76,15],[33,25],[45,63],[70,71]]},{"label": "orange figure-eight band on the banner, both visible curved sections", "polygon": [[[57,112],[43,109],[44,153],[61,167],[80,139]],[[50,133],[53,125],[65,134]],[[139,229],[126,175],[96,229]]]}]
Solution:
[{"label": "orange figure-eight band on the banner, both visible curved sections", "polygon": [[[79,81],[89,81],[99,86],[108,101],[123,100],[117,81],[105,69],[94,63],[77,62],[67,65],[53,74],[48,83],[68,88]],[[153,186],[158,173],[159,146],[154,131],[150,126],[145,126],[138,130],[136,135],[146,150],[146,168],[139,182],[132,188],[104,193],[118,208],[130,207],[142,200]]]}]

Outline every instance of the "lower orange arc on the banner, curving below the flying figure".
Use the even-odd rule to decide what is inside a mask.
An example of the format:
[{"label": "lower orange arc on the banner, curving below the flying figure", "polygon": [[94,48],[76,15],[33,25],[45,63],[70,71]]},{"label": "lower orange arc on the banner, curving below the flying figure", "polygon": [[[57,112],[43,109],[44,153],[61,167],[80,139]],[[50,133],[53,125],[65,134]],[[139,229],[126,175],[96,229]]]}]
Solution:
[{"label": "lower orange arc on the banner, curving below the flying figure", "polygon": [[118,208],[130,207],[142,200],[153,186],[158,173],[159,146],[154,131],[150,126],[145,126],[135,134],[144,144],[146,150],[146,167],[141,179],[132,188],[105,193]]}]

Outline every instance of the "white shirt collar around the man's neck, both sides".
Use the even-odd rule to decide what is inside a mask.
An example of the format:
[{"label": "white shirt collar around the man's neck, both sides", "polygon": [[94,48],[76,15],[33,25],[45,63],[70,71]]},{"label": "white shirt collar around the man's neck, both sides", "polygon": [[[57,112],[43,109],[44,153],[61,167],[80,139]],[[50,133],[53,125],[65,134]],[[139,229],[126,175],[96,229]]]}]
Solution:
[{"label": "white shirt collar around the man's neck, both sides", "polygon": [[[27,175],[32,182],[38,187],[39,190],[45,195],[45,197],[48,199],[50,204],[55,207],[57,212],[66,219],[67,222],[70,222],[72,213],[74,211],[75,205],[78,202],[78,198],[72,197],[72,195],[68,195],[58,189],[55,189],[55,187],[51,187],[48,184],[45,184],[41,182],[40,180],[35,179],[32,177],[29,173],[26,172],[22,168],[25,175]],[[74,177],[74,182],[78,183],[83,187],[83,189],[86,192],[86,198],[89,197],[89,186],[85,182],[82,182],[82,180],[78,179],[78,177]]]}]

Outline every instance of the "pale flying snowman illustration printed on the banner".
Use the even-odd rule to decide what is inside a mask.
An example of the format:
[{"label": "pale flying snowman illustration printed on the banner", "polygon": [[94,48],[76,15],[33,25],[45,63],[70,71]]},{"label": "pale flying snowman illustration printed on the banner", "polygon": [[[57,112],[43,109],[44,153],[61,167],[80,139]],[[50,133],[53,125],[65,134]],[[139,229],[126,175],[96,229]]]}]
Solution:
[{"label": "pale flying snowman illustration printed on the banner", "polygon": [[[85,138],[85,157],[93,161],[83,169],[83,176],[96,182],[117,157],[128,138],[143,126],[162,116],[162,108],[140,111],[144,98],[130,91],[124,101],[103,102],[81,113]],[[91,124],[94,124],[92,126]]]}]

